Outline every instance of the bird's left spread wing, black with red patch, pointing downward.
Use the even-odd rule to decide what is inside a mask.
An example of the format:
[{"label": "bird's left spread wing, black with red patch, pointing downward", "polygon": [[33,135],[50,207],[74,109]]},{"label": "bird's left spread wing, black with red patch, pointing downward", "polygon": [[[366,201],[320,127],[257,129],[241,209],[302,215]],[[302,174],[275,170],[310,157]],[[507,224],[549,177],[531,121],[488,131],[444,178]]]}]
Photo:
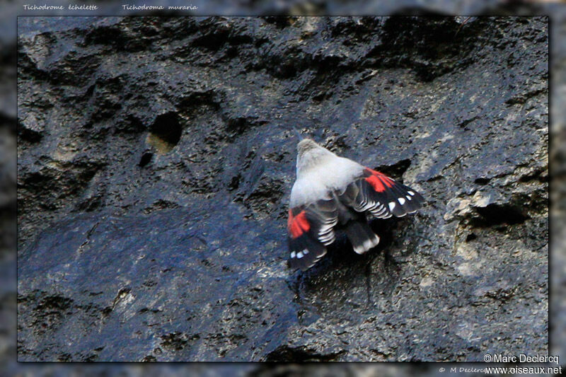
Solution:
[{"label": "bird's left spread wing, black with red patch, pointing downward", "polygon": [[306,270],[326,254],[325,245],[335,240],[334,226],[338,222],[336,199],[289,209],[287,232],[291,268]]}]

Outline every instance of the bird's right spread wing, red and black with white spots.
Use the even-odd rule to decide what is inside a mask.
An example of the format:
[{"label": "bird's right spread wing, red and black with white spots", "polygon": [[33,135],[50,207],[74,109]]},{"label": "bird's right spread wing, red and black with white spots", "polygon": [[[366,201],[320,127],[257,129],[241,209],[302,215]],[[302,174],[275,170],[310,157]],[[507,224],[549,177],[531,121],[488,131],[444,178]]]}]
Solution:
[{"label": "bird's right spread wing, red and black with white spots", "polygon": [[387,175],[365,168],[362,176],[346,187],[340,201],[358,212],[366,212],[369,218],[387,219],[414,213],[422,207],[424,198]]}]

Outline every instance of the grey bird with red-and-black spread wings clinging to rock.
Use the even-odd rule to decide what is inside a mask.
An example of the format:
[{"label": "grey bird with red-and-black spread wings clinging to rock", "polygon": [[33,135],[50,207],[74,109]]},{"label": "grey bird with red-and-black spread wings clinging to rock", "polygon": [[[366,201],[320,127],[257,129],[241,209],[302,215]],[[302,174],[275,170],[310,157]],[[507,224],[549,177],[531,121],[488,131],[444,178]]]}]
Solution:
[{"label": "grey bird with red-and-black spread wings clinging to rock", "polygon": [[344,231],[355,253],[364,254],[379,244],[369,221],[413,214],[424,204],[416,190],[337,156],[312,139],[301,139],[296,151],[287,220],[293,269],[313,267],[338,230]]}]

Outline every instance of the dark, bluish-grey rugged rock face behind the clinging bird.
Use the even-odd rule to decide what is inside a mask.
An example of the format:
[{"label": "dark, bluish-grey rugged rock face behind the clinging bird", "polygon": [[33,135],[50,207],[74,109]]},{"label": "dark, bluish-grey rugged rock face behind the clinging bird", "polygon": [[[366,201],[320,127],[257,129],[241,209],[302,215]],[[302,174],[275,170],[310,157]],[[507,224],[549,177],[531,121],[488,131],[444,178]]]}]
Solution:
[{"label": "dark, bluish-grey rugged rock face behind the clinging bird", "polygon": [[[20,361],[548,352],[547,18],[30,20]],[[294,127],[426,207],[290,270]]]}]

